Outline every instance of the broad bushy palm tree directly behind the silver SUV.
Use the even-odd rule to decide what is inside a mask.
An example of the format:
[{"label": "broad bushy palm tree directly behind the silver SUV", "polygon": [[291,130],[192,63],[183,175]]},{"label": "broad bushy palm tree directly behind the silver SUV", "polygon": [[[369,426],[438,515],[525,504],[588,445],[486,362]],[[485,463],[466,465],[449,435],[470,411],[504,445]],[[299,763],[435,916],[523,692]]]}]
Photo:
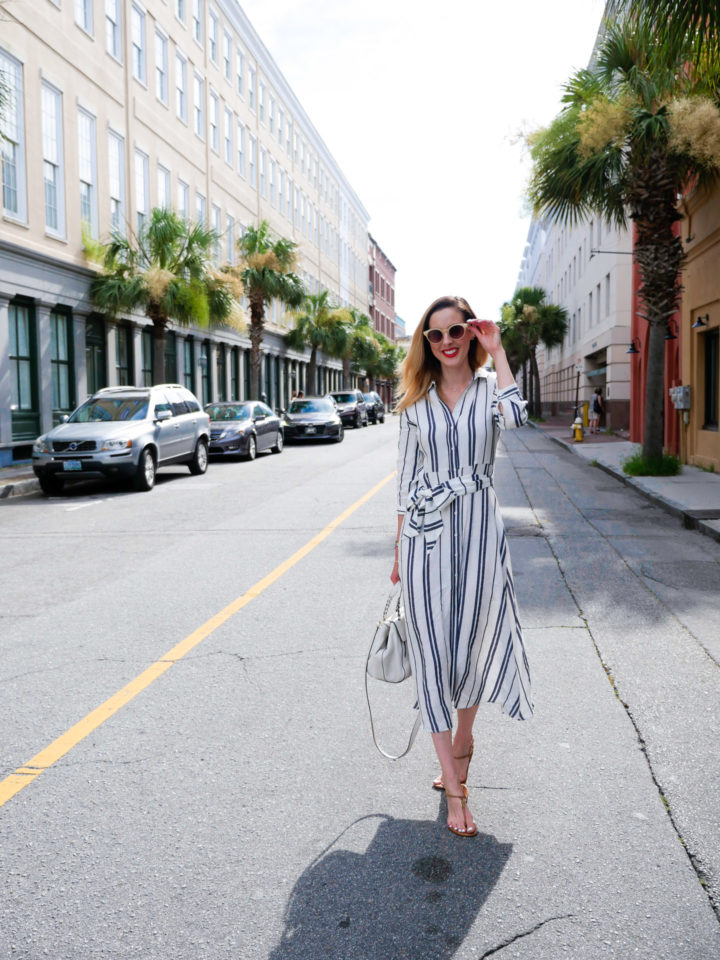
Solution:
[{"label": "broad bushy palm tree directly behind the silver SUV", "polygon": [[156,383],[165,382],[165,334],[171,322],[207,327],[232,313],[232,279],[210,263],[215,240],[214,231],[155,208],[137,236],[114,231],[90,254],[102,265],[90,283],[98,310],[111,316],[142,311],[152,321]]}]

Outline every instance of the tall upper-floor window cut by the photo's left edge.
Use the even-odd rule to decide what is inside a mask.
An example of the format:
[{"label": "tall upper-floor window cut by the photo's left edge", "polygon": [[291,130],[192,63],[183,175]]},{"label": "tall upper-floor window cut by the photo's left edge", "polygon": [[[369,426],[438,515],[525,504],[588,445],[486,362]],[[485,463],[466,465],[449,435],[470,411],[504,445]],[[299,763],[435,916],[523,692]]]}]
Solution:
[{"label": "tall upper-floor window cut by the photo's left edge", "polygon": [[3,210],[25,223],[25,121],[23,117],[22,67],[0,50],[0,79],[5,86],[5,107],[0,114]]}]

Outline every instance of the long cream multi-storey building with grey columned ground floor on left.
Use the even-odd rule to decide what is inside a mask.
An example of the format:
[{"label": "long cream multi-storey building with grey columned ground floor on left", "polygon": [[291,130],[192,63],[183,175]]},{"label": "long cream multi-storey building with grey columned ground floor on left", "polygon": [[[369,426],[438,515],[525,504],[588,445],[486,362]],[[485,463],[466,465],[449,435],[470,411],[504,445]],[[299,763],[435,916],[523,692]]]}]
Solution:
[{"label": "long cream multi-storey building with grey columned ground floor on left", "polygon": [[[141,316],[94,312],[83,230],[154,207],[204,221],[233,262],[261,220],[298,244],[310,292],[367,307],[369,215],[236,0],[19,0],[3,7],[0,463],[102,386],[148,383]],[[358,111],[358,115],[362,115]],[[262,390],[304,387],[273,304]],[[173,329],[166,365],[203,402],[243,399],[249,340]],[[321,360],[321,387],[340,362]]]}]

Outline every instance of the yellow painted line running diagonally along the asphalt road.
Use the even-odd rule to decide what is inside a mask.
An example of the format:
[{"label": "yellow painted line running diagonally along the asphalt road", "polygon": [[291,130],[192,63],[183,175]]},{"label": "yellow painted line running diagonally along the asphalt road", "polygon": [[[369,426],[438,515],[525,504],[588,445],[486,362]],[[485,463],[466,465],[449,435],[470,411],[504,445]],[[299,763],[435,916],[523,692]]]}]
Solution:
[{"label": "yellow painted line running diagonally along the asphalt road", "polygon": [[367,503],[371,497],[374,497],[378,490],[382,489],[394,476],[395,471],[389,473],[380,483],[377,483],[371,490],[368,490],[366,494],[353,503],[352,506],[344,510],[340,516],[335,517],[335,519],[321,530],[320,533],[314,536],[312,540],[308,540],[305,546],[300,547],[291,557],[284,560],[280,566],[275,567],[275,569],[266,577],[263,577],[262,580],[258,580],[258,582],[250,587],[241,597],[233,600],[224,610],[216,613],[214,617],[211,617],[201,627],[198,627],[197,630],[194,630],[189,636],[185,637],[184,640],[176,644],[172,650],[168,650],[164,657],[150,664],[146,670],[143,670],[134,680],[131,680],[127,686],[123,687],[122,690],[118,690],[109,700],[106,700],[105,703],[96,707],[95,710],[86,717],[83,717],[75,726],[70,727],[70,729],[59,736],[57,740],[36,754],[32,760],[24,766],[18,767],[14,773],[11,773],[5,777],[4,780],[0,781],[0,807],[14,797],[15,794],[19,793],[23,787],[26,787],[32,783],[33,780],[36,780],[41,773],[64,757],[65,754],[69,753],[72,748],[77,746],[81,740],[84,740],[88,734],[97,730],[101,724],[105,723],[107,719],[117,713],[125,704],[129,703],[139,693],[149,687],[154,680],[162,676],[174,663],[182,660],[186,654],[199,643],[202,643],[203,640],[206,640],[218,627],[227,623],[231,617],[239,610],[242,610],[251,600],[259,597],[264,590],[272,586],[272,584],[279,580],[283,574],[287,573],[291,567],[294,567],[296,563],[299,563],[303,557],[306,557],[315,547],[321,544],[323,540],[329,537],[351,514],[355,513],[363,504]]}]

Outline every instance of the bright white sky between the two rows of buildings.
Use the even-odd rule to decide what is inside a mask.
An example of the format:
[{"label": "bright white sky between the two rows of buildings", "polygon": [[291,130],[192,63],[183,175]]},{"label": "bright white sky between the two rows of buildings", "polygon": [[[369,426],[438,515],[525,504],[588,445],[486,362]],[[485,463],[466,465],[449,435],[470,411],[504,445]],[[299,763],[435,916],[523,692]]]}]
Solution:
[{"label": "bright white sky between the two rows of buildings", "polygon": [[436,297],[497,319],[529,217],[512,140],[587,65],[604,0],[240,0],[397,267],[411,331]]}]

